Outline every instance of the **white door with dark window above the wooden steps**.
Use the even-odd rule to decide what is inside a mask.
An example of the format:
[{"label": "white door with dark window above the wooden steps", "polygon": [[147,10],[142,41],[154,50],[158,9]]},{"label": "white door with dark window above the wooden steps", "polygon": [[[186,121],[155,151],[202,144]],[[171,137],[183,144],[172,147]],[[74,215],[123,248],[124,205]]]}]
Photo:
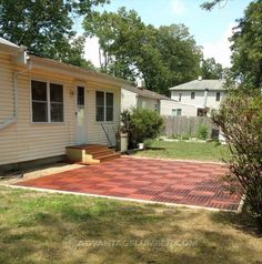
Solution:
[{"label": "white door with dark window above the wooden steps", "polygon": [[77,144],[87,143],[87,130],[85,130],[85,108],[84,108],[84,87],[77,87],[75,91],[77,100]]}]

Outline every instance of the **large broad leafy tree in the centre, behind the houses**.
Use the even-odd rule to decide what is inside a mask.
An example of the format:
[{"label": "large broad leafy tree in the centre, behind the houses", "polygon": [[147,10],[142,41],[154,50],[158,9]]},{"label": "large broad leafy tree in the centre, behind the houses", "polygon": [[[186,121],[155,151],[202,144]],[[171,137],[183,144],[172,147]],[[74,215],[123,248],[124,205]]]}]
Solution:
[{"label": "large broad leafy tree in the centre, behind the houses", "polygon": [[132,81],[142,77],[150,90],[168,88],[199,74],[200,48],[182,24],[145,26],[135,11],[93,13],[84,20],[89,37],[100,43],[101,69]]}]

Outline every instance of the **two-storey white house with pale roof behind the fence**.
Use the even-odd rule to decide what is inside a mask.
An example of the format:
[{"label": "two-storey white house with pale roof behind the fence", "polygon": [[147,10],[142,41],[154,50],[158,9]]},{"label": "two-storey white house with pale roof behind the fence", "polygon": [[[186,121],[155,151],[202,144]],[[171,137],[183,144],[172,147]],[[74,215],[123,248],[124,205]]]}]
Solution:
[{"label": "two-storey white house with pale roof behind the fence", "polygon": [[[225,97],[224,80],[198,80],[169,89],[171,99],[182,104],[194,105],[195,115],[205,115],[211,109],[219,109]],[[181,112],[181,109],[177,109]],[[181,115],[184,115],[183,111]]]}]

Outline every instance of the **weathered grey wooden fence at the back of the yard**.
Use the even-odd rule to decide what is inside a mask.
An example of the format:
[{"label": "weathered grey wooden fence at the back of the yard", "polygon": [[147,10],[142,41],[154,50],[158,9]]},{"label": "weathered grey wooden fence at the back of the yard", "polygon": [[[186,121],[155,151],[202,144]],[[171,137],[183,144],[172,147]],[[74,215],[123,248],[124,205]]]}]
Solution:
[{"label": "weathered grey wooden fence at the back of the yard", "polygon": [[195,136],[201,124],[205,124],[209,136],[218,136],[218,129],[208,116],[163,116],[164,129],[162,134]]}]

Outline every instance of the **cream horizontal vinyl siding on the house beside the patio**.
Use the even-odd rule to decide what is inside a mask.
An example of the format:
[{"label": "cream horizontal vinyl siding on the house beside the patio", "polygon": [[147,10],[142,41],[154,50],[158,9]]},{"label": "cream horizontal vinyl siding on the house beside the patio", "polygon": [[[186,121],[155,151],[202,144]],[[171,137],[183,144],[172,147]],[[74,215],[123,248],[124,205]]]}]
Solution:
[{"label": "cream horizontal vinyl siding on the house beside the patio", "polygon": [[[12,72],[11,57],[0,53],[0,74],[4,82],[0,82],[1,121],[13,114],[12,106]],[[49,80],[52,83],[63,83],[64,120],[59,123],[32,123],[31,122],[31,80]],[[87,82],[87,143],[107,144],[107,136],[101,125],[95,122],[95,91],[104,89],[114,93],[114,120],[107,124],[110,139],[115,143],[114,130],[120,122],[120,88],[102,83]],[[32,70],[18,77],[18,120],[0,130],[0,165],[37,159],[63,155],[66,146],[75,144],[75,109],[77,100],[73,93],[77,87],[69,75],[58,75]],[[1,122],[0,121],[0,122]]]}]

